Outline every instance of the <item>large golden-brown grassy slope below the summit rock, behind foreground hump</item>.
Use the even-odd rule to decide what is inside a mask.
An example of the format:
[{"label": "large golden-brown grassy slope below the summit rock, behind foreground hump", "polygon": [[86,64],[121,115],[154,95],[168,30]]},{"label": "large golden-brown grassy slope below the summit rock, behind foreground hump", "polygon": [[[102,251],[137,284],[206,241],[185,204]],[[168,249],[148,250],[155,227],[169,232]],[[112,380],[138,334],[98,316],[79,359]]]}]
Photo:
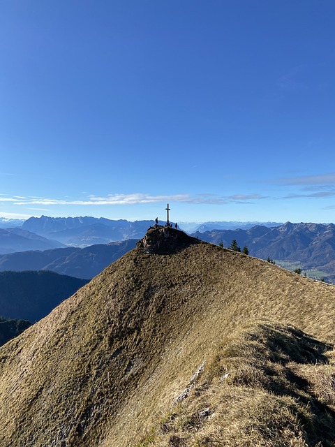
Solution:
[{"label": "large golden-brown grassy slope below the summit rock, behind foreground hump", "polygon": [[[209,365],[221,356],[221,342],[248,321],[281,321],[332,343],[334,306],[334,286],[211,244],[165,256],[135,249],[0,350],[0,444],[137,445],[173,411],[204,360],[204,377],[218,381]],[[224,385],[228,403],[238,394],[241,408],[257,409],[253,387],[239,394],[234,381]],[[259,388],[267,405],[281,407],[278,396]],[[181,414],[195,411],[187,399],[183,405]],[[331,411],[332,401],[327,405]],[[155,432],[153,445],[174,445],[174,437],[178,443],[179,428]],[[302,425],[295,430],[304,439]],[[229,444],[229,430],[222,436],[226,441],[213,445],[242,445]]]}]

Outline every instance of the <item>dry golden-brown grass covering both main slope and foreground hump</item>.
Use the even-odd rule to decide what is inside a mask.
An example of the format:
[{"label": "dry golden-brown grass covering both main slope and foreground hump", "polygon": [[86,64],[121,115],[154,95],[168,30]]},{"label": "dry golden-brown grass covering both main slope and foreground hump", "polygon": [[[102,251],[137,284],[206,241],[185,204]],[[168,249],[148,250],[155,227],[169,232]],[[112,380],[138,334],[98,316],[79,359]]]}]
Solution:
[{"label": "dry golden-brown grass covering both main slope and foreground hump", "polygon": [[[135,249],[0,350],[0,445],[135,446],[150,430],[157,446],[316,444],[304,423],[315,417],[310,397],[333,405],[334,290],[211,244]],[[245,328],[259,318],[281,324],[257,323],[253,339]],[[204,379],[176,407],[204,360]],[[215,411],[187,428],[205,405]],[[152,427],[179,407],[179,426],[157,437]],[[269,444],[280,430],[287,444]]]}]

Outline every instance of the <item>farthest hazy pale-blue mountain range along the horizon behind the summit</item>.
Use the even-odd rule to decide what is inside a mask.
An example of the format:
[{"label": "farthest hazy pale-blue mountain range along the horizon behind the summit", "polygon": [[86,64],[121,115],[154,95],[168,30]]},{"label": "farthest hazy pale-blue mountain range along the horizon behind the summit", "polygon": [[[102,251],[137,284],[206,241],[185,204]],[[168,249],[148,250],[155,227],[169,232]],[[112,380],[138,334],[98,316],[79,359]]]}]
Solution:
[{"label": "farthest hazy pale-blue mountain range along the horizon behind the summit", "polygon": [[[165,222],[160,221],[163,225]],[[103,217],[31,217],[26,221],[20,219],[4,219],[0,218],[0,228],[3,231],[8,230],[12,233],[0,234],[0,254],[13,253],[15,251],[24,250],[46,250],[64,246],[70,247],[89,247],[95,244],[108,244],[110,242],[123,241],[128,239],[140,239],[143,237],[147,229],[154,224],[154,219],[143,221],[127,221],[125,219],[111,220]],[[184,222],[179,228],[191,233],[200,231],[203,233],[213,229],[236,229],[251,228],[255,226],[255,222]],[[278,226],[280,223],[266,222],[257,223],[262,226]],[[15,227],[15,228],[13,228]],[[19,228],[29,233],[18,233]],[[31,236],[35,235],[35,241]],[[21,237],[27,237],[29,241],[14,237],[15,234]],[[30,235],[30,236],[29,236]],[[36,237],[36,235],[39,236]],[[43,239],[41,239],[43,238]],[[52,240],[52,242],[47,242]],[[56,246],[56,241],[59,244]],[[1,243],[2,242],[2,243]],[[44,243],[45,245],[43,245]],[[47,246],[47,243],[50,245]],[[53,244],[53,245],[52,245]],[[63,244],[63,245],[62,245]]]}]

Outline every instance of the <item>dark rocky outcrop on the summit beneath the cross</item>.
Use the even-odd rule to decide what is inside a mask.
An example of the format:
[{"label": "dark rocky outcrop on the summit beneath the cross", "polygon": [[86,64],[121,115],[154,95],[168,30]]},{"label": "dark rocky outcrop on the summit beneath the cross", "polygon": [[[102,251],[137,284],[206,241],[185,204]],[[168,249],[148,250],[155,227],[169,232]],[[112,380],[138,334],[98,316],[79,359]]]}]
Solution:
[{"label": "dark rocky outcrop on the summit beneath the cross", "polygon": [[137,247],[149,254],[174,254],[190,245],[200,244],[196,237],[170,226],[155,225],[137,242]]}]

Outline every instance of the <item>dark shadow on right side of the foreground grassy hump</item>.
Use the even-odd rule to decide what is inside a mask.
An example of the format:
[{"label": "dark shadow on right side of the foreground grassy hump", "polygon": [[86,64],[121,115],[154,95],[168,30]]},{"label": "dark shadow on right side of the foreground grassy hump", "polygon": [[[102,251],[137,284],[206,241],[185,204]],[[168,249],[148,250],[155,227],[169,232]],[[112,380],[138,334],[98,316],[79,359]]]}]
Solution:
[{"label": "dark shadow on right side of the foreground grassy hump", "polygon": [[[320,342],[296,328],[274,328],[273,325],[263,324],[262,330],[267,334],[266,345],[271,353],[270,362],[263,367],[264,373],[270,379],[265,383],[265,389],[275,395],[292,397],[306,405],[313,420],[313,423],[308,418],[302,421],[308,437],[308,446],[322,443],[320,446],[334,447],[333,402],[320,399],[311,382],[299,374],[299,365],[308,365],[311,374],[318,374],[317,367],[329,365],[327,352],[332,350],[333,346]],[[276,369],[278,363],[283,365],[281,376],[278,376]],[[330,393],[335,393],[335,390],[330,390]]]}]

